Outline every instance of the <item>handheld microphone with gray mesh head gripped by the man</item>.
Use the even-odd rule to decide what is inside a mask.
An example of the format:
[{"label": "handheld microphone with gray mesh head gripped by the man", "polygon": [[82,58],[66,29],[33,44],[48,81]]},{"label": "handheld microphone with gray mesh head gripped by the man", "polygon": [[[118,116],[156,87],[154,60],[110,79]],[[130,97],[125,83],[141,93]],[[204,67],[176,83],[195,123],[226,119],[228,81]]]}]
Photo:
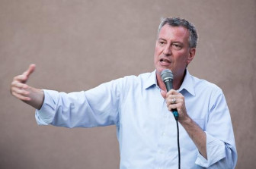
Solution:
[{"label": "handheld microphone with gray mesh head gripped by the man", "polygon": [[[173,74],[172,74],[171,70],[168,70],[168,69],[162,70],[161,78],[162,78],[163,82],[165,83],[167,92],[169,92],[173,88],[172,87]],[[178,120],[177,108],[171,109],[171,111],[172,111],[172,114],[174,114],[175,120]]]}]

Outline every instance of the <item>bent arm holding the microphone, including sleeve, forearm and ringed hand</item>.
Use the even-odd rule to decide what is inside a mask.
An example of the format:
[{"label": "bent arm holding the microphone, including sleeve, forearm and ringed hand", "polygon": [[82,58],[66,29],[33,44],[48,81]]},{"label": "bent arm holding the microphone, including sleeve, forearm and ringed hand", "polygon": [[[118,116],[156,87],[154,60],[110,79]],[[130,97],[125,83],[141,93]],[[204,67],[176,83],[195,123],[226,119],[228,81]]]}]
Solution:
[{"label": "bent arm holding the microphone, including sleeve, forearm and ringed hand", "polygon": [[[162,95],[169,111],[177,108],[179,123],[200,152],[195,163],[202,167],[235,168],[237,152],[229,108],[220,89],[213,93],[207,112],[206,130],[202,130],[187,114],[184,96],[181,93],[171,89],[167,93],[162,92]],[[173,98],[176,100],[175,103]]]}]

